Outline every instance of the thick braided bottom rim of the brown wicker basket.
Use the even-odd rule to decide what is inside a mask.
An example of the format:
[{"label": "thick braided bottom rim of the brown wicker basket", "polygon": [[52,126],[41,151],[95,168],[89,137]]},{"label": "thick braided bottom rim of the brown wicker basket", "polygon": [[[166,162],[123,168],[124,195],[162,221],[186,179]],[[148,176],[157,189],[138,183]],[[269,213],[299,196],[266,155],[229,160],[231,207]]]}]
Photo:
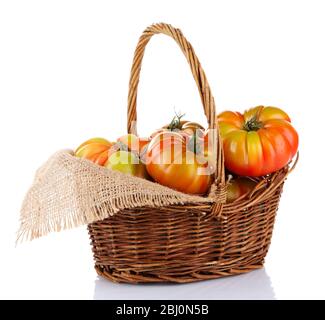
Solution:
[{"label": "thick braided bottom rim of the brown wicker basket", "polygon": [[226,276],[234,276],[242,273],[247,273],[263,267],[264,260],[257,264],[245,266],[240,269],[228,269],[216,273],[192,273],[182,276],[166,276],[166,275],[153,275],[145,273],[135,273],[127,271],[118,271],[110,268],[109,266],[95,265],[97,274],[105,279],[119,283],[190,283],[202,280],[217,279]]}]

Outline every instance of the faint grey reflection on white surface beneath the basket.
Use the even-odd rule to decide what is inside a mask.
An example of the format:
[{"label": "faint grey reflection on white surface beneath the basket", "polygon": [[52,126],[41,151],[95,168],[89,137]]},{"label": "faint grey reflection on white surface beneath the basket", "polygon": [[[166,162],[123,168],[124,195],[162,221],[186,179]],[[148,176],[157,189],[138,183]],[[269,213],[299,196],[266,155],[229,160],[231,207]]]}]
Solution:
[{"label": "faint grey reflection on white surface beneath the basket", "polygon": [[264,268],[246,274],[189,284],[124,284],[102,277],[95,281],[98,300],[217,300],[275,299],[272,283]]}]

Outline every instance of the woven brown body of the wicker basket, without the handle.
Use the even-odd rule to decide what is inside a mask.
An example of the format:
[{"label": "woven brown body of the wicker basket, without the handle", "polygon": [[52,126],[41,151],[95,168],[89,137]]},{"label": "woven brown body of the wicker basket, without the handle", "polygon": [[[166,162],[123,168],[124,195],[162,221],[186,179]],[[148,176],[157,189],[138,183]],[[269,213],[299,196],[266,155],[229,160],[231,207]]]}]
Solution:
[{"label": "woven brown body of the wicker basket, without the handle", "polygon": [[190,283],[259,269],[282,186],[251,205],[246,200],[226,204],[218,217],[202,203],[130,208],[94,222],[88,230],[95,269],[125,283]]}]

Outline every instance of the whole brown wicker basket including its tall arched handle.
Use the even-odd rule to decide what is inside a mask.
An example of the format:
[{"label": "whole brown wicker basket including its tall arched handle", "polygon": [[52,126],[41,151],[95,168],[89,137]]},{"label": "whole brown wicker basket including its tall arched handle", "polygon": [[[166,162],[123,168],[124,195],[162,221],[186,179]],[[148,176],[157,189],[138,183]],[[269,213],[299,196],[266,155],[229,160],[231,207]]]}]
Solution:
[{"label": "whole brown wicker basket including its tall arched handle", "polygon": [[[209,127],[215,128],[215,104],[205,73],[191,44],[168,24],[148,27],[139,39],[131,70],[128,132],[136,133],[136,100],[145,47],[154,34],[173,38],[197,83]],[[215,128],[218,129],[218,128]],[[289,166],[261,177],[245,199],[225,203],[225,168],[218,134],[216,202],[127,209],[88,225],[95,269],[118,282],[193,282],[262,267]]]}]

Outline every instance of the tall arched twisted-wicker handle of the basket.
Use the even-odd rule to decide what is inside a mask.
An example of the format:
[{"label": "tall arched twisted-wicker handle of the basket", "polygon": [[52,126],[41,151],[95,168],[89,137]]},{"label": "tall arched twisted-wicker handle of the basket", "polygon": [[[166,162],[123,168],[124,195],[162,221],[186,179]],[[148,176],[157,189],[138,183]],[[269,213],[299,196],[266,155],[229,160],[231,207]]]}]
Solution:
[{"label": "tall arched twisted-wicker handle of the basket", "polygon": [[140,78],[141,64],[144,55],[144,51],[147,43],[151,37],[155,34],[165,34],[173,38],[176,43],[181,48],[183,54],[186,57],[187,62],[191,67],[191,71],[194,80],[199,89],[203,109],[205,116],[207,118],[209,128],[215,129],[217,146],[216,146],[216,184],[225,184],[225,172],[224,172],[224,157],[223,157],[223,147],[219,134],[219,128],[216,125],[216,111],[214,98],[211,93],[209,83],[207,81],[206,75],[201,67],[199,59],[197,58],[192,45],[186,40],[181,30],[172,27],[170,24],[158,23],[153,24],[146,28],[142,33],[137,47],[135,49],[133,63],[131,68],[131,75],[129,81],[129,94],[128,94],[128,113],[127,113],[127,130],[128,133],[137,134],[137,92],[138,84]]}]

